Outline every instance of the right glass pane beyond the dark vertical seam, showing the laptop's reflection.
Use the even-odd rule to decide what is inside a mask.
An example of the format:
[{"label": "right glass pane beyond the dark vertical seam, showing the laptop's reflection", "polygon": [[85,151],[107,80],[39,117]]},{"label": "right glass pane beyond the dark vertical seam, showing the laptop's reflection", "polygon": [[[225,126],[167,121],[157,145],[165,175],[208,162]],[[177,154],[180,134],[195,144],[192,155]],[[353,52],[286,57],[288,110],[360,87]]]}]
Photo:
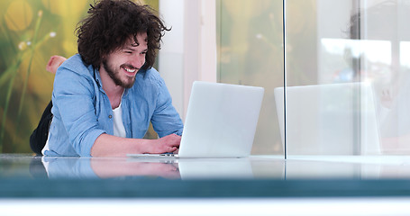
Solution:
[{"label": "right glass pane beyond the dark vertical seam, showing the laptop's reflection", "polygon": [[408,152],[406,8],[287,0],[289,156]]}]

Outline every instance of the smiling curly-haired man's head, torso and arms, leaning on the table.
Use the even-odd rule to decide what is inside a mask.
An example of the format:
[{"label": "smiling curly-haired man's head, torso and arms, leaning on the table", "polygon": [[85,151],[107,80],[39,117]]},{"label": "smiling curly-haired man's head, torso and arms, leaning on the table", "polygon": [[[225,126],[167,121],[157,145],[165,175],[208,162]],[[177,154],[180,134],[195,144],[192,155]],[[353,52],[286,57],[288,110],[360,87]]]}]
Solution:
[{"label": "smiling curly-haired man's head, torso and arms, leaning on the table", "polygon": [[[148,6],[101,0],[57,70],[46,156],[124,157],[178,150],[182,121],[152,68],[164,31]],[[150,121],[160,139],[142,139]]]}]

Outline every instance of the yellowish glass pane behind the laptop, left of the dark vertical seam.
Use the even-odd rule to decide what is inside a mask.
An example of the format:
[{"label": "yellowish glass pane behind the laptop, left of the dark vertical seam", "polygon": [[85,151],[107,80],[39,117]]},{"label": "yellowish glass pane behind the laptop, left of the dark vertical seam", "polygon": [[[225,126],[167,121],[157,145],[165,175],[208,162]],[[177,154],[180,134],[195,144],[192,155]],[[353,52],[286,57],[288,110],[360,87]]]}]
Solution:
[{"label": "yellowish glass pane behind the laptop, left of the dark vertical seam", "polygon": [[218,82],[265,88],[252,154],[282,155],[274,89],[283,85],[282,0],[217,1]]}]

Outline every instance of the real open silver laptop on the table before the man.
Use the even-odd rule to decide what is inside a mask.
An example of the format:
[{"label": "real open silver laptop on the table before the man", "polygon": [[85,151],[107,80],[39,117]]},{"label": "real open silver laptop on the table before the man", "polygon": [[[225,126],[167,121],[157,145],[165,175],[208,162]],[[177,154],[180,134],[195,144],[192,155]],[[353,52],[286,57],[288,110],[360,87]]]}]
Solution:
[{"label": "real open silver laptop on the table before the man", "polygon": [[194,82],[178,155],[129,157],[248,157],[264,89],[246,85]]}]

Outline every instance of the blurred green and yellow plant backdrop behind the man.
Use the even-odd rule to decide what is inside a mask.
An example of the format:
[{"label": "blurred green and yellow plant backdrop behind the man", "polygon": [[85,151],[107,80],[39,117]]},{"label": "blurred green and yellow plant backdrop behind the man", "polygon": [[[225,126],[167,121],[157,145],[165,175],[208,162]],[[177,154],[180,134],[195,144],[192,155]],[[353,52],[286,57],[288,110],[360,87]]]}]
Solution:
[{"label": "blurred green and yellow plant backdrop behind the man", "polygon": [[[158,0],[138,1],[158,10]],[[94,0],[0,2],[0,152],[28,153],[32,130],[50,102],[52,55],[77,53],[77,23]]]}]

